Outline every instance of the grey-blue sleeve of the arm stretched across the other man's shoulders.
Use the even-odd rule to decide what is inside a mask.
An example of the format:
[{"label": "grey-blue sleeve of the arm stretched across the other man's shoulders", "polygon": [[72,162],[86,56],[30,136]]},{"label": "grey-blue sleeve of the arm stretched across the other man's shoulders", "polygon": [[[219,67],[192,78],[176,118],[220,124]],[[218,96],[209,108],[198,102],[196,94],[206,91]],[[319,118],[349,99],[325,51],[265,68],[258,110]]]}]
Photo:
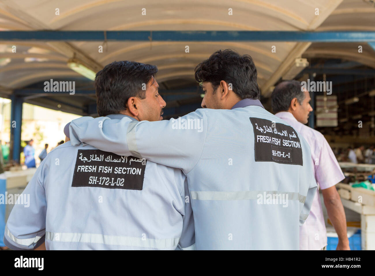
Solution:
[{"label": "grey-blue sleeve of the arm stretched across the other man's shoulders", "polygon": [[156,122],[82,117],[69,126],[72,145],[87,143],[118,155],[133,155],[188,173],[201,156],[207,117],[198,109]]}]

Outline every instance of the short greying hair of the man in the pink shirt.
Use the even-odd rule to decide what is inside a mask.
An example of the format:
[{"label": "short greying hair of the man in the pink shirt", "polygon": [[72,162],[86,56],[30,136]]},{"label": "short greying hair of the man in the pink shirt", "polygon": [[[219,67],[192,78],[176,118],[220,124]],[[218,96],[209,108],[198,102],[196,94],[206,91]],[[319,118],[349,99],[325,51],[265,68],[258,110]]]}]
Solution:
[{"label": "short greying hair of the man in the pink shirt", "polygon": [[279,83],[273,89],[271,95],[273,112],[288,111],[290,103],[294,98],[297,98],[297,101],[302,104],[305,94],[301,91],[301,87],[301,82],[297,80],[285,80]]}]

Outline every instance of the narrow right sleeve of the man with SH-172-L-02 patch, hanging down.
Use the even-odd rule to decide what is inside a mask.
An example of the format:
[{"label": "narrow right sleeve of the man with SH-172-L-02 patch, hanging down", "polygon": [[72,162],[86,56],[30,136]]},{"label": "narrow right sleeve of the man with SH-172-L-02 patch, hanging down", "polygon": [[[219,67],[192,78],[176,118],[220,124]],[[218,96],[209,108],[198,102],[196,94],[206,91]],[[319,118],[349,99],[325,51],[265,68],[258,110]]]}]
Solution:
[{"label": "narrow right sleeve of the man with SH-172-L-02 patch, hanging down", "polygon": [[178,249],[195,250],[194,218],[193,218],[193,210],[191,207],[189,187],[187,185],[186,178],[184,182],[184,191],[182,193],[182,196],[185,202],[185,216],[183,220],[183,227],[182,227],[182,234],[181,234],[180,242],[178,243]]}]

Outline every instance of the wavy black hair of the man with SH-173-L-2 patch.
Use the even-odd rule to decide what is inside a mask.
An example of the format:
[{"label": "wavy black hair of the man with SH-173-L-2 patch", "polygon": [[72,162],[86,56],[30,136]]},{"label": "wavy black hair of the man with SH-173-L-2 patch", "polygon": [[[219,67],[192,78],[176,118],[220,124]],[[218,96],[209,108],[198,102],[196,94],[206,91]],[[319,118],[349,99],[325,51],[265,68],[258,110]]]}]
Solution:
[{"label": "wavy black hair of the man with SH-173-L-2 patch", "polygon": [[232,90],[241,100],[260,99],[257,83],[257,68],[248,54],[241,56],[237,52],[226,49],[219,50],[195,67],[195,80],[199,83],[212,83],[214,93],[220,81],[232,84]]}]

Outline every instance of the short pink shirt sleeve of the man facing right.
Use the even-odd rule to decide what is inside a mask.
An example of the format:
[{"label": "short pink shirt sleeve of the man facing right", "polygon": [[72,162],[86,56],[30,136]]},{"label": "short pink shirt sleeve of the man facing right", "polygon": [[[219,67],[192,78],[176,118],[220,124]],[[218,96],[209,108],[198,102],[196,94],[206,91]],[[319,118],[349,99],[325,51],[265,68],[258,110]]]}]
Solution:
[{"label": "short pink shirt sleeve of the man facing right", "polygon": [[318,163],[315,162],[315,177],[320,189],[328,189],[335,186],[345,178],[344,173],[327,140],[322,137]]}]

